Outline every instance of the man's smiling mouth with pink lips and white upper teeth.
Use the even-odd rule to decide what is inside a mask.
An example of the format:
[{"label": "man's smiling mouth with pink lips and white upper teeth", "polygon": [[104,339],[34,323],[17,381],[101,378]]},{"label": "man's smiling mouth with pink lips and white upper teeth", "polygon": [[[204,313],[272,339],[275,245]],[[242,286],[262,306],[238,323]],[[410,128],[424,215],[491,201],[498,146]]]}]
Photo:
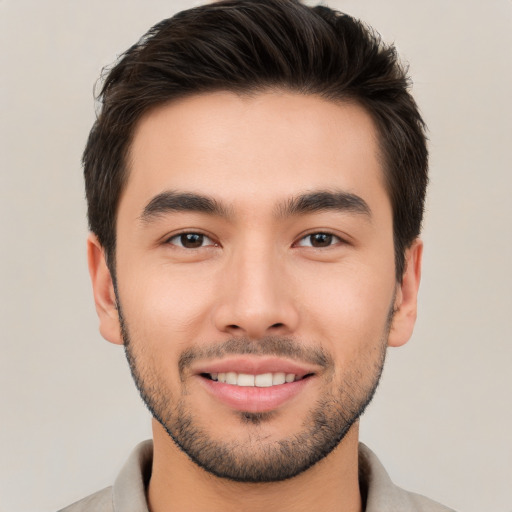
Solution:
[{"label": "man's smiling mouth with pink lips and white upper teeth", "polygon": [[195,375],[210,397],[231,410],[270,412],[297,400],[316,380],[314,370],[280,359],[236,358]]}]

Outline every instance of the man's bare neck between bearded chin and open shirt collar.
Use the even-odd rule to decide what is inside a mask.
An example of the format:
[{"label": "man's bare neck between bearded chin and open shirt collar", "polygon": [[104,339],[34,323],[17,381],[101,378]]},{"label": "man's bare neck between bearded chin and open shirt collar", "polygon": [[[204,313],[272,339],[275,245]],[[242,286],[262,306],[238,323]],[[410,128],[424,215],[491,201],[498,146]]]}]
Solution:
[{"label": "man's bare neck between bearded chin and open shirt collar", "polygon": [[151,512],[361,512],[358,424],[326,458],[294,478],[239,483],[215,477],[192,462],[153,420],[154,456],[148,503]]}]

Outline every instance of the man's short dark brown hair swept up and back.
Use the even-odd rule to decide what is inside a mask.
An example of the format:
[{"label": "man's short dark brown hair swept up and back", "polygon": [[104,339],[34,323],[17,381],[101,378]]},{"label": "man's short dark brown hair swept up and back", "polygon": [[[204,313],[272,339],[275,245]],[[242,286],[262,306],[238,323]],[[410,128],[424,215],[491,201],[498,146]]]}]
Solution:
[{"label": "man's short dark brown hair swept up and back", "polygon": [[149,109],[218,90],[285,89],[352,101],[379,133],[393,208],[397,280],[419,235],[428,182],[425,125],[393,46],[360,21],[298,0],[224,0],[152,27],[109,71],[83,155],[89,226],[115,268],[116,213],[134,128]]}]

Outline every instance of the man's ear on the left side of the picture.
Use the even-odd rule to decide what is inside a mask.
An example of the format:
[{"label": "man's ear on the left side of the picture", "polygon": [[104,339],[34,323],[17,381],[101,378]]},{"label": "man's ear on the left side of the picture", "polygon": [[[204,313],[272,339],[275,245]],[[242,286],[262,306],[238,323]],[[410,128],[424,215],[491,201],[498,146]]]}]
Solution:
[{"label": "man's ear on the left side of the picture", "polygon": [[122,345],[114,283],[105,259],[105,251],[92,233],[87,238],[87,261],[96,313],[100,320],[100,333],[107,341]]}]

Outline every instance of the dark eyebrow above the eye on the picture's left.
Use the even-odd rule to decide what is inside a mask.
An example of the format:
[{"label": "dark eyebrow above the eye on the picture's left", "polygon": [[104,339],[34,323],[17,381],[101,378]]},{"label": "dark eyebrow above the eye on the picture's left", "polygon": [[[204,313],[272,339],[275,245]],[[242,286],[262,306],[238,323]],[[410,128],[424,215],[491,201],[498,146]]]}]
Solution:
[{"label": "dark eyebrow above the eye on the picture's left", "polygon": [[189,192],[166,191],[153,197],[144,207],[140,219],[150,222],[157,217],[172,212],[197,212],[228,217],[228,209],[215,199]]}]

